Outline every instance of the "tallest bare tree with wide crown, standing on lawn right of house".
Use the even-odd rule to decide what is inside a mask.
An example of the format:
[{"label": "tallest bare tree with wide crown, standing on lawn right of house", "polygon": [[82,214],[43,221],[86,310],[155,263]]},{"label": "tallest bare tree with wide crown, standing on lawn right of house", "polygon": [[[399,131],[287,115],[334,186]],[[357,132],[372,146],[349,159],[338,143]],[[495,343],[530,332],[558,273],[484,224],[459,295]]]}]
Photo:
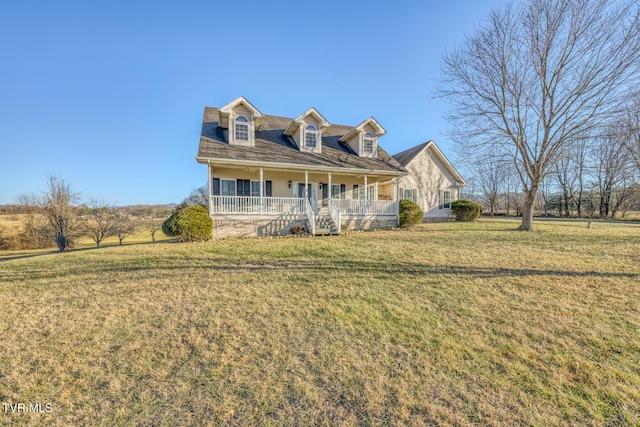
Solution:
[{"label": "tallest bare tree with wide crown, standing on lawn right of house", "polygon": [[639,7],[613,0],[508,3],[443,56],[452,135],[511,156],[525,195],[519,230],[533,229],[538,189],[567,141],[619,111],[639,65]]}]

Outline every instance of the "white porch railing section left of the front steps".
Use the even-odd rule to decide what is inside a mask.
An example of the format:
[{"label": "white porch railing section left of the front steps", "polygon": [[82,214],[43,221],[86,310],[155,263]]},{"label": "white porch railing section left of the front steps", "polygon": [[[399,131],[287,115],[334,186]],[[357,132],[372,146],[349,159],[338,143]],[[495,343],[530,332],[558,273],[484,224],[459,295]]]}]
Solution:
[{"label": "white porch railing section left of the front steps", "polygon": [[304,213],[305,199],[298,197],[211,196],[212,214],[279,215]]}]

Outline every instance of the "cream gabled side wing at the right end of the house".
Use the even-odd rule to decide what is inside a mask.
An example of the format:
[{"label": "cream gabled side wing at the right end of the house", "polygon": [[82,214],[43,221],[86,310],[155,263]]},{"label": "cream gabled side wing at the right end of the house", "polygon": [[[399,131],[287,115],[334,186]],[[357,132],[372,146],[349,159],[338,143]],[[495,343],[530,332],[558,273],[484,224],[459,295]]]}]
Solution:
[{"label": "cream gabled side wing at the right end of the house", "polygon": [[452,217],[451,202],[466,185],[433,141],[394,156],[409,174],[400,178],[400,198],[413,200],[424,212],[423,221]]}]

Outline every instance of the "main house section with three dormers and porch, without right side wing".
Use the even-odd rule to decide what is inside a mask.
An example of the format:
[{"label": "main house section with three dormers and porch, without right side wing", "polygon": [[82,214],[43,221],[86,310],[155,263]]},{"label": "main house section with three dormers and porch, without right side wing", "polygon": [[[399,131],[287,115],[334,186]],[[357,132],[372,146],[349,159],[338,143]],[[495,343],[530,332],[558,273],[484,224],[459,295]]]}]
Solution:
[{"label": "main house section with three dormers and porch, without right side wing", "polygon": [[206,107],[196,160],[207,165],[216,237],[396,227],[407,171],[378,145],[385,133],[373,117],[270,116],[244,97]]}]

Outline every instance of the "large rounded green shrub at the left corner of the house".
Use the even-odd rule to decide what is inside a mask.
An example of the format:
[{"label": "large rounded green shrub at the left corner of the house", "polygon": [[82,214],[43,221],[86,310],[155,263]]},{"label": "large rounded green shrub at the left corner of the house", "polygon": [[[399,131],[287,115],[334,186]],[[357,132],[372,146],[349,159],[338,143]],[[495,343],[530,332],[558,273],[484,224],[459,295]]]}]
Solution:
[{"label": "large rounded green shrub at the left corner of the house", "polygon": [[209,240],[213,223],[207,208],[200,205],[179,207],[162,223],[162,231],[182,241]]}]

